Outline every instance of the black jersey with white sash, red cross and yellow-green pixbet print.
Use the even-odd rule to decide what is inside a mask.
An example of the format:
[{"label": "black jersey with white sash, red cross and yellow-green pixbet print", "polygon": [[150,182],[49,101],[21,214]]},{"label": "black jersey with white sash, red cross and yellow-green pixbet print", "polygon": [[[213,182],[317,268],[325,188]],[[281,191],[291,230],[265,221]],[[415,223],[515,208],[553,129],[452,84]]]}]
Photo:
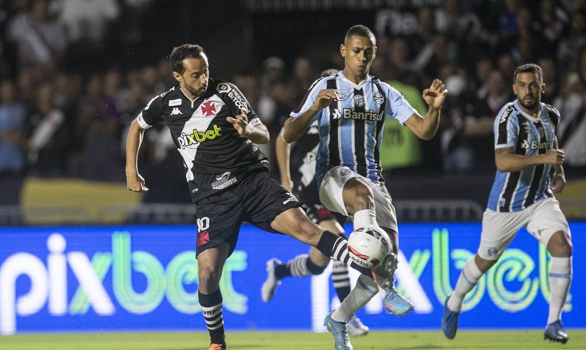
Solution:
[{"label": "black jersey with white sash, red cross and yellow-green pixbet print", "polygon": [[171,129],[194,203],[241,181],[251,170],[268,171],[263,152],[226,120],[241,108],[248,111],[248,126],[261,123],[236,85],[210,78],[203,96],[191,101],[178,84],[152,98],[137,117],[144,129],[157,121]]}]

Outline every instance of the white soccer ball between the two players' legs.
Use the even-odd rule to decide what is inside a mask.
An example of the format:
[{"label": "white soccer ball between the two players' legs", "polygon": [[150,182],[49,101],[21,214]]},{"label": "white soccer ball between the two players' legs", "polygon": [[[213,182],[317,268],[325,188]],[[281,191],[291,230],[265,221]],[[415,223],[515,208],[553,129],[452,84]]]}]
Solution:
[{"label": "white soccer ball between the two players' legs", "polygon": [[391,241],[384,232],[373,228],[358,228],[348,239],[348,253],[358,265],[376,267],[391,250]]}]

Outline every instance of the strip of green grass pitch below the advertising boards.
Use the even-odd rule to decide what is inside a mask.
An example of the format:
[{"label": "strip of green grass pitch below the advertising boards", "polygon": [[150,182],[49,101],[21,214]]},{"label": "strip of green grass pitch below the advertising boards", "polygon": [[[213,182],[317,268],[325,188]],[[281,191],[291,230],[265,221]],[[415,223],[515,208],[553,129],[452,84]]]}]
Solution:
[{"label": "strip of green grass pitch below the advertising boards", "polygon": [[[568,330],[567,344],[543,340],[543,331],[459,331],[448,340],[439,331],[371,332],[352,338],[356,350],[389,349],[586,349],[586,330]],[[228,349],[333,349],[329,333],[227,332]],[[6,350],[207,350],[206,333],[18,334],[0,337]]]}]

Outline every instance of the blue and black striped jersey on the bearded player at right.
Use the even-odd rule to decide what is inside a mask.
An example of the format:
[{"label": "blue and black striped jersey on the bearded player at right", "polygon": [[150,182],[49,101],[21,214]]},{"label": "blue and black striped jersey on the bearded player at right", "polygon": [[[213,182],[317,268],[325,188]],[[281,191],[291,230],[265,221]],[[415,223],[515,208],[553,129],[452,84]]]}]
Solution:
[{"label": "blue and black striped jersey on the bearded player at right", "polygon": [[[524,113],[519,102],[509,102],[496,116],[495,149],[515,147],[516,155],[543,155],[553,149],[560,112],[541,103],[539,118]],[[553,197],[550,185],[551,165],[540,164],[521,171],[496,170],[488,199],[494,211],[519,211],[546,197]]]}]

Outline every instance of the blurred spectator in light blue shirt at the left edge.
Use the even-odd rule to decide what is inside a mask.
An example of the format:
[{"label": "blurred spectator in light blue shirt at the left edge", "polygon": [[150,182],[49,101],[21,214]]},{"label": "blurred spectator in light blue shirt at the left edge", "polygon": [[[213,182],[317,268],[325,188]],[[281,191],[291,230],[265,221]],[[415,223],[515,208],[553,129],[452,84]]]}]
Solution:
[{"label": "blurred spectator in light blue shirt at the left edge", "polygon": [[25,170],[25,107],[16,99],[16,87],[0,82],[0,204],[19,204]]}]

